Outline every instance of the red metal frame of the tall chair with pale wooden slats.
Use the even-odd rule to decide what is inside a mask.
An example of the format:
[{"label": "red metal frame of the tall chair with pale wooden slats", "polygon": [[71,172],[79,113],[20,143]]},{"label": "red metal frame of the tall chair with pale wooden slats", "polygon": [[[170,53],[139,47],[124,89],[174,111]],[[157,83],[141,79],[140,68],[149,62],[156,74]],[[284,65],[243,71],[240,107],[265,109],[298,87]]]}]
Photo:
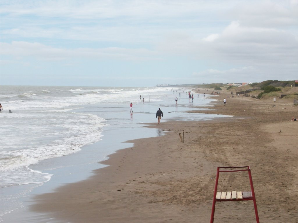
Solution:
[{"label": "red metal frame of the tall chair with pale wooden slats", "polygon": [[[243,168],[245,168],[245,169],[243,169]],[[236,170],[221,170],[221,169],[236,169]],[[250,187],[252,189],[252,197],[242,198],[242,199],[233,199],[233,200],[232,199],[229,199],[229,200],[216,200],[216,192],[217,192],[219,173],[220,172],[240,172],[240,171],[247,171],[248,172]],[[255,197],[255,194],[254,194],[254,185],[252,183],[252,173],[250,171],[250,167],[249,166],[246,166],[246,167],[217,167],[210,223],[213,223],[213,221],[214,221],[215,202],[218,202],[218,201],[219,202],[221,202],[221,201],[241,201],[241,200],[252,200],[254,202],[254,212],[255,212],[255,215],[256,215],[256,220],[257,220],[257,223],[260,223],[258,210],[257,210],[256,197]]]}]

